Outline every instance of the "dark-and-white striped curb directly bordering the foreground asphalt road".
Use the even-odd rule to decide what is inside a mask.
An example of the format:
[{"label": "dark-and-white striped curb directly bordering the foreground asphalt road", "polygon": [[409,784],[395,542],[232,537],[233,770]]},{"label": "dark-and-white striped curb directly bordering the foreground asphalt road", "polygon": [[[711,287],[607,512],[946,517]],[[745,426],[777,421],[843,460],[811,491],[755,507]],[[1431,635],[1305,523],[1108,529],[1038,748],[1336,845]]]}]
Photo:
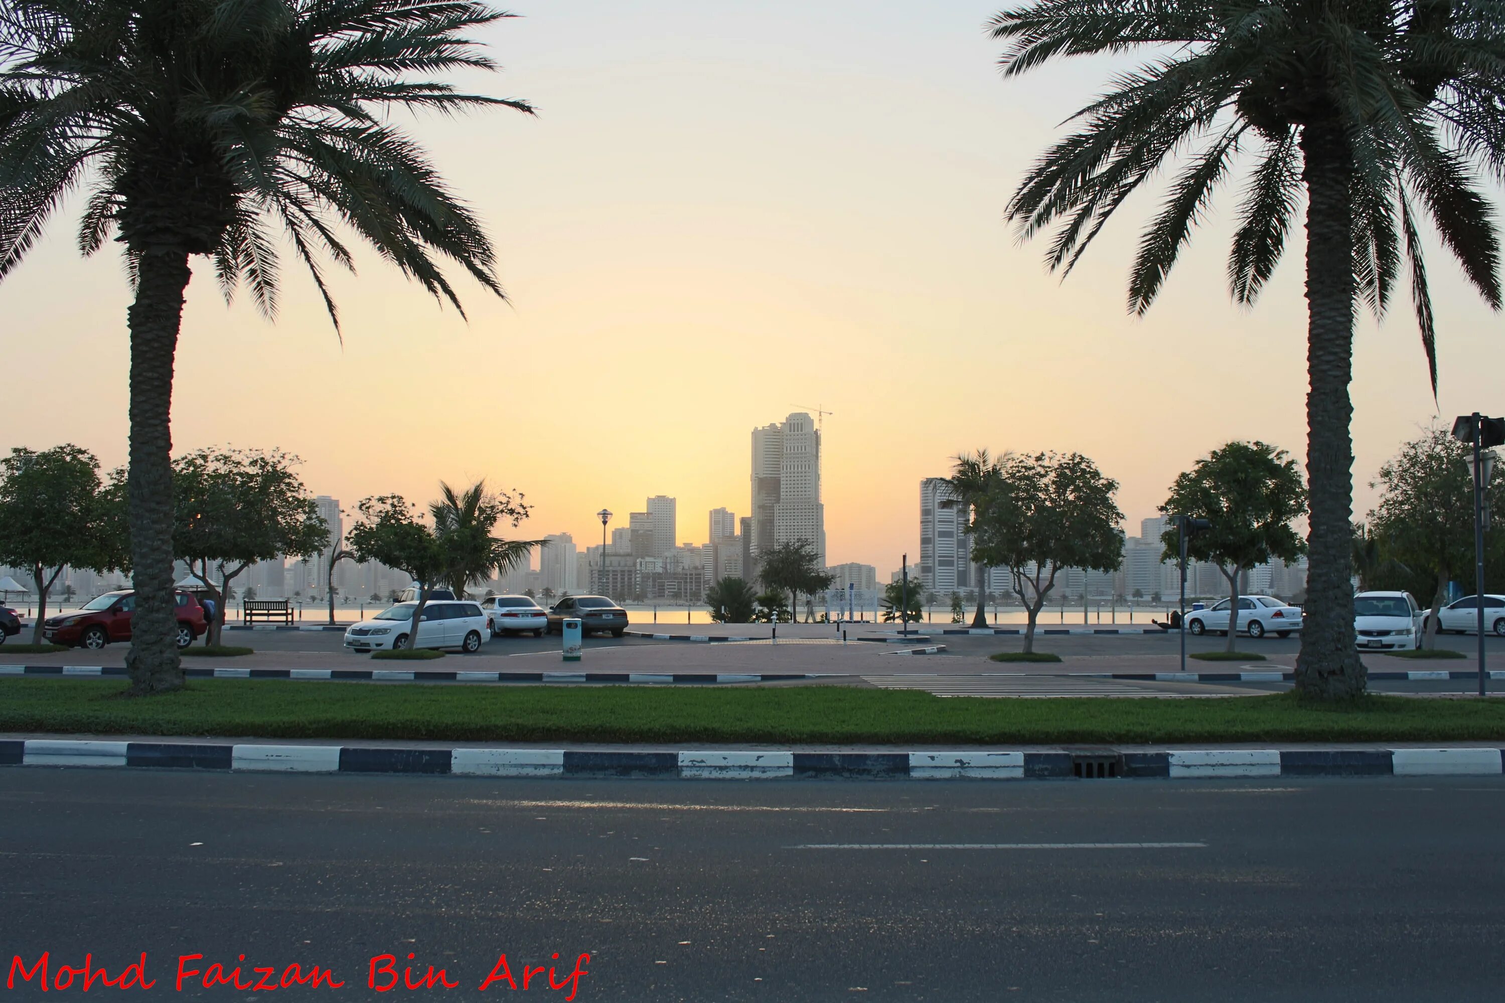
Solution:
[{"label": "dark-and-white striped curb directly bordering the foreground asphalt road", "polygon": [[[1091,768],[1084,765],[1090,764]],[[158,767],[263,773],[661,776],[679,779],[1067,779],[1494,776],[1500,749],[1187,749],[1166,752],[610,752],[394,749],[184,741],[0,740],[0,765]]]}]

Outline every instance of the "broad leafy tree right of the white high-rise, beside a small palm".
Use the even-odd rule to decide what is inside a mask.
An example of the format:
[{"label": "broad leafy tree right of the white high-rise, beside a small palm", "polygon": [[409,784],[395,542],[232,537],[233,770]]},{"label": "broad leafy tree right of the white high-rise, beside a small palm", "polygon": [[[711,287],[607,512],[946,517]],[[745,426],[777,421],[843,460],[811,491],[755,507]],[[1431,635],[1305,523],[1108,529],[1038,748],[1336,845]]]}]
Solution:
[{"label": "broad leafy tree right of the white high-rise, beside a small palm", "polygon": [[1025,651],[1034,651],[1035,620],[1061,568],[1115,571],[1123,564],[1118,481],[1079,453],[1007,456],[974,516],[974,552],[1007,567],[1025,608]]}]

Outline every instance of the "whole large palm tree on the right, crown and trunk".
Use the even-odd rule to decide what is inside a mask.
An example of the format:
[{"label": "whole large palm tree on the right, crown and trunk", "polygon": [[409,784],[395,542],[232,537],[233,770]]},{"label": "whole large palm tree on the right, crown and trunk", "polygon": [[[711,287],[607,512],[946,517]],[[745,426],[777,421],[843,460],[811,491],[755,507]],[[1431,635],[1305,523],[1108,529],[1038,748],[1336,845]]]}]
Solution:
[{"label": "whole large palm tree on the right, crown and trunk", "polygon": [[1499,0],[1034,0],[990,27],[1010,42],[1001,60],[1008,77],[1057,56],[1133,47],[1154,54],[1075,116],[1081,128],[1035,161],[1008,203],[1022,236],[1057,227],[1046,260],[1070,272],[1124,198],[1190,153],[1141,238],[1132,313],[1154,301],[1239,153],[1257,150],[1228,259],[1240,304],[1252,304],[1275,271],[1305,192],[1311,612],[1296,684],[1329,699],[1362,693],[1348,580],[1354,298],[1382,316],[1404,265],[1433,394],[1422,217],[1499,308],[1499,247],[1479,174],[1505,177],[1505,8]]}]

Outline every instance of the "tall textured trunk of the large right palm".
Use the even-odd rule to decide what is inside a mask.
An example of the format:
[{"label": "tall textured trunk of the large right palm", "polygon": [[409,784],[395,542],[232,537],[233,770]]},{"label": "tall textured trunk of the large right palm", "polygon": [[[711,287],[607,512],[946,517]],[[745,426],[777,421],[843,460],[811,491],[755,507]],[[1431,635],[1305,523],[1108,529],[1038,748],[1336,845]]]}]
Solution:
[{"label": "tall textured trunk of the large right palm", "polygon": [[1306,183],[1306,480],[1311,495],[1306,623],[1296,689],[1321,699],[1364,693],[1353,636],[1353,162],[1341,126],[1302,129]]}]

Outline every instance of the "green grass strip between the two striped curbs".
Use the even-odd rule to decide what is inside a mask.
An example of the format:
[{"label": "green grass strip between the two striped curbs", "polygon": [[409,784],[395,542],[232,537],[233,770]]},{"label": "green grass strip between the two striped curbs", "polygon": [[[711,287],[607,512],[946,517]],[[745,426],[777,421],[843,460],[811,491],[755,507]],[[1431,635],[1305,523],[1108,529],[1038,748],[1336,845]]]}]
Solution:
[{"label": "green grass strip between the two striped curbs", "polygon": [[983,699],[838,686],[370,686],[191,680],[120,699],[117,680],[0,678],[0,732],[652,743],[1206,743],[1505,738],[1505,699],[1290,693],[1222,699]]}]

